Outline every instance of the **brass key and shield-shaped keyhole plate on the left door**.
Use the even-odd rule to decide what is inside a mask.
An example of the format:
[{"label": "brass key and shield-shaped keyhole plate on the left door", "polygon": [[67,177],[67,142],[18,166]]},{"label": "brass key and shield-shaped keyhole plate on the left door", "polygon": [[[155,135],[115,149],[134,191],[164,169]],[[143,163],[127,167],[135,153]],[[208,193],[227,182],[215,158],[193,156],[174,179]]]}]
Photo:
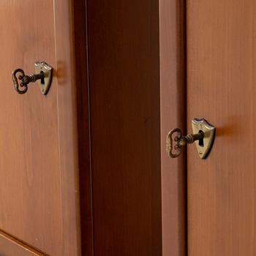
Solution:
[{"label": "brass key and shield-shaped keyhole plate on the left door", "polygon": [[[12,83],[18,94],[26,94],[28,91],[28,84],[34,83],[37,80],[39,80],[42,94],[46,95],[48,93],[53,76],[53,68],[45,61],[37,61],[34,66],[36,74],[25,75],[23,69],[15,69],[12,72]],[[16,75],[18,73],[20,73],[20,75],[17,78]],[[21,80],[20,84],[18,83],[18,79]]]}]

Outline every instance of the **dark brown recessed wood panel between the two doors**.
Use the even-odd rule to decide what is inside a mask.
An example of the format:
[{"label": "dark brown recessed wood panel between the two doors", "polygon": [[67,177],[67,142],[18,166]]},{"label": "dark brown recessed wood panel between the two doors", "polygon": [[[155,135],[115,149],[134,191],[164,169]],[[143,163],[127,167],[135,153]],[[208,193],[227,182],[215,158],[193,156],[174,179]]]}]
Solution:
[{"label": "dark brown recessed wood panel between the two doors", "polygon": [[94,255],[162,255],[159,1],[88,1]]}]

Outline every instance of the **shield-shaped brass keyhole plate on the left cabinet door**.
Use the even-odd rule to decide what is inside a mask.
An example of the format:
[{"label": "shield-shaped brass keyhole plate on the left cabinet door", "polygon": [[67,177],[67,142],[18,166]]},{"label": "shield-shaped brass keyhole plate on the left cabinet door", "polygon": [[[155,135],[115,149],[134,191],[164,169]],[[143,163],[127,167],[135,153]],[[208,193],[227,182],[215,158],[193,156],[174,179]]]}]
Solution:
[{"label": "shield-shaped brass keyhole plate on the left cabinet door", "polygon": [[53,77],[53,68],[50,67],[45,61],[37,61],[34,64],[34,68],[36,70],[36,74],[40,72],[44,72],[45,78],[42,80],[38,80],[40,89],[42,94],[46,95],[50,89],[50,83]]}]

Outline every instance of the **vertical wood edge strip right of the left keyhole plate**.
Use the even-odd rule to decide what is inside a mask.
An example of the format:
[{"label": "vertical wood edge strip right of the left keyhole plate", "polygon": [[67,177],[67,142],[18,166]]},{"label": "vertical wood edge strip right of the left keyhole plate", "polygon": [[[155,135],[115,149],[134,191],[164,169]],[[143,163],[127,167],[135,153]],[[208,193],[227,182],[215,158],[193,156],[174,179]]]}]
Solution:
[{"label": "vertical wood edge strip right of the left keyhole plate", "polygon": [[77,87],[72,0],[55,0],[58,70],[59,162],[62,195],[62,254],[80,256]]}]

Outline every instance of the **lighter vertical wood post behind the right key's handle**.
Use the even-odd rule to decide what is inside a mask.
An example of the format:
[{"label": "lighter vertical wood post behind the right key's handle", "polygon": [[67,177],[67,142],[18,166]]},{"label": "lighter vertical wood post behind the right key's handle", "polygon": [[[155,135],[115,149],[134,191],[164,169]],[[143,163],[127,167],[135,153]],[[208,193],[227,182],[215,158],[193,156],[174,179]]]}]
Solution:
[{"label": "lighter vertical wood post behind the right key's handle", "polygon": [[165,151],[170,129],[186,130],[185,1],[159,1],[162,255],[187,255],[186,152],[170,159]]}]

